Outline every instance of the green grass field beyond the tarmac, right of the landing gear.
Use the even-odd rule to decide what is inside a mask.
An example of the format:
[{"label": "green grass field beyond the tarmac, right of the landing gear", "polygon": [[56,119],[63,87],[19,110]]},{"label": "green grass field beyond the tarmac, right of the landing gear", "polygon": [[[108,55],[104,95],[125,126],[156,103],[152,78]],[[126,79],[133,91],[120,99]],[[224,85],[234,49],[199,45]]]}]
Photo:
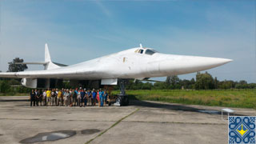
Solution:
[{"label": "green grass field beyond the tarmac, right of the landing gear", "polygon": [[[113,91],[118,94],[118,91]],[[126,90],[131,99],[256,109],[256,90]]]}]

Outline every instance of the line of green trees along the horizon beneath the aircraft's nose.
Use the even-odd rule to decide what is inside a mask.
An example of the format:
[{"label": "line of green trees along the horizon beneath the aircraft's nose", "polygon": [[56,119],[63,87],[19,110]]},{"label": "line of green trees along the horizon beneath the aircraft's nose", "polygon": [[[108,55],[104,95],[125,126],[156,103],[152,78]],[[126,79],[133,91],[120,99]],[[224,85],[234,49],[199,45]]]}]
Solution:
[{"label": "line of green trees along the horizon beneath the aircraft's nose", "polygon": [[256,83],[247,83],[246,81],[219,81],[213,78],[209,73],[196,74],[196,79],[180,79],[178,76],[166,77],[166,82],[132,82],[130,80],[126,90],[226,90],[226,89],[255,89]]}]

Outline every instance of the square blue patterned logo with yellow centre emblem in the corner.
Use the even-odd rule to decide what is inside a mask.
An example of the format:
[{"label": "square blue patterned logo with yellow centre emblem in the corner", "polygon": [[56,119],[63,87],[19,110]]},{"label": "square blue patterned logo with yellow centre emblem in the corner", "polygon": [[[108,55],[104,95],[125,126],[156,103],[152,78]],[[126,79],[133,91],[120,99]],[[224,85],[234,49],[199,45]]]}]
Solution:
[{"label": "square blue patterned logo with yellow centre emblem in the corner", "polygon": [[229,143],[232,144],[245,144],[254,143],[256,139],[255,134],[255,116],[229,117]]}]

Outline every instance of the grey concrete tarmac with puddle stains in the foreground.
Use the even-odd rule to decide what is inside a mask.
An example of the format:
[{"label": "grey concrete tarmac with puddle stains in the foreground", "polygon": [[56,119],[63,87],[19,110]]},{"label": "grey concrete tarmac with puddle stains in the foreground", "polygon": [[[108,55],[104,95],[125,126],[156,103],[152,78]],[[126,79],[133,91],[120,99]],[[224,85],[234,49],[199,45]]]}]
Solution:
[{"label": "grey concrete tarmac with puddle stains in the foreground", "polygon": [[[130,106],[34,106],[0,97],[0,143],[227,143],[217,106],[132,101]],[[256,115],[237,109],[235,115]],[[226,115],[225,115],[226,118]]]}]

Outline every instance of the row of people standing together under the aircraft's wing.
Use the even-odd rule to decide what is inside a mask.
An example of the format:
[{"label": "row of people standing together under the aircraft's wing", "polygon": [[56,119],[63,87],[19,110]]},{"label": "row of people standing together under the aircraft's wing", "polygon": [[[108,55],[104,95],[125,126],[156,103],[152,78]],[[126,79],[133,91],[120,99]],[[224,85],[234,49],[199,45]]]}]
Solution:
[{"label": "row of people standing together under the aircraft's wing", "polygon": [[79,89],[48,89],[32,90],[30,93],[30,106],[98,106],[106,105],[106,90]]}]

